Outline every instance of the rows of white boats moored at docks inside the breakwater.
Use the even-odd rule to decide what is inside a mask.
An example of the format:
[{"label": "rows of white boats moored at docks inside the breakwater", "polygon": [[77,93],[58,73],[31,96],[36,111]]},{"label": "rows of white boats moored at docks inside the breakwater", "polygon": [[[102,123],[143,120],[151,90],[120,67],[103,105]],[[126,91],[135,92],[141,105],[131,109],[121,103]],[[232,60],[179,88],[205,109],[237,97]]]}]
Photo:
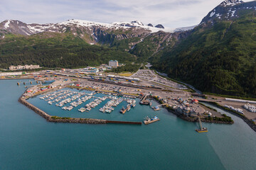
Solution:
[{"label": "rows of white boats moored at docks inside the breakwater", "polygon": [[[104,96],[94,96],[95,91],[71,91],[70,89],[63,89],[60,91],[54,91],[50,94],[39,96],[39,98],[43,101],[47,101],[49,105],[55,103],[55,106],[59,106],[65,111],[71,111],[78,106],[82,106],[78,108],[78,111],[90,112],[92,108],[96,108],[100,103],[107,100],[104,106],[102,106],[99,111],[102,113],[111,113],[114,111],[114,108],[117,107],[122,102],[127,102],[127,106],[125,108],[126,111],[130,111],[131,107],[136,106],[136,100],[134,98],[129,98],[129,96],[113,96],[111,94],[103,94]],[[88,102],[86,102],[88,101]],[[86,104],[85,104],[86,102]]]}]

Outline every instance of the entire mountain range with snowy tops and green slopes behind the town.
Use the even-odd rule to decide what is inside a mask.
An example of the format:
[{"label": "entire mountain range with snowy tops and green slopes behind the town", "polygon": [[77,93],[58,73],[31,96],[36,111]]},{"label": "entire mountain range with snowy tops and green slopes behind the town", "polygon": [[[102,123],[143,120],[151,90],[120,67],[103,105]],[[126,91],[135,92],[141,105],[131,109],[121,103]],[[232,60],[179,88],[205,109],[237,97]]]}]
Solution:
[{"label": "entire mountain range with snowy tops and green slopes behind the town", "polygon": [[[85,60],[105,62],[117,52],[122,62],[151,62],[154,69],[201,91],[256,97],[255,24],[256,1],[238,0],[223,1],[198,26],[178,28],[172,33],[139,21],[104,26],[80,20],[40,26],[4,21],[0,23],[0,62],[5,67],[23,64],[23,59],[45,67],[79,67],[80,63],[86,64]],[[32,35],[23,33],[28,30]],[[36,55],[35,50],[39,52]],[[46,62],[38,57],[44,55]],[[60,60],[62,55],[65,60]]]}]

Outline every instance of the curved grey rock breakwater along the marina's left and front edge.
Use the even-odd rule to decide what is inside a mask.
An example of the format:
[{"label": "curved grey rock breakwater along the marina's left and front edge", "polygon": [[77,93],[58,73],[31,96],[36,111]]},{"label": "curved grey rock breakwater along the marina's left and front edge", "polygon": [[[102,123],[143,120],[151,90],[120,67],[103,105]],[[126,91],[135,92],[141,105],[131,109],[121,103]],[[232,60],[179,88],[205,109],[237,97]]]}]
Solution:
[{"label": "curved grey rock breakwater along the marina's left and front edge", "polygon": [[30,108],[32,111],[36,112],[38,115],[41,115],[45,118],[48,122],[55,122],[55,123],[88,123],[88,124],[106,124],[107,120],[101,119],[92,119],[92,118],[60,118],[57,116],[51,116],[42,111],[41,109],[33,106],[31,103],[28,103],[25,98],[18,98],[18,101],[23,105]]}]

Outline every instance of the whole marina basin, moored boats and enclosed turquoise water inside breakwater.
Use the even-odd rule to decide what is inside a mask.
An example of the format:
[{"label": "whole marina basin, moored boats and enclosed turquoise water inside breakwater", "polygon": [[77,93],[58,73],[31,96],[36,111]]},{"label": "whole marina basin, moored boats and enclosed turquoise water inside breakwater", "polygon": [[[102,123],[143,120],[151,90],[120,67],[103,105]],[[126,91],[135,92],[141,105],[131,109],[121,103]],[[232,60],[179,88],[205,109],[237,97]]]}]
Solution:
[{"label": "whole marina basin, moored boats and enclosed turquoise water inside breakwater", "polygon": [[[119,113],[122,106],[126,108],[127,113],[134,114],[134,108],[137,106],[136,103],[139,99],[126,95],[117,96],[110,93],[64,88],[41,94],[36,96],[36,98],[29,98],[28,102],[33,103],[35,100],[40,102],[43,108],[53,108],[54,114],[47,111],[50,115],[74,118],[99,118],[98,116],[95,117],[95,112],[112,115],[113,112],[114,114]],[[106,118],[106,120],[111,119]],[[126,121],[125,118],[117,120]],[[142,122],[143,119],[138,120]]]}]

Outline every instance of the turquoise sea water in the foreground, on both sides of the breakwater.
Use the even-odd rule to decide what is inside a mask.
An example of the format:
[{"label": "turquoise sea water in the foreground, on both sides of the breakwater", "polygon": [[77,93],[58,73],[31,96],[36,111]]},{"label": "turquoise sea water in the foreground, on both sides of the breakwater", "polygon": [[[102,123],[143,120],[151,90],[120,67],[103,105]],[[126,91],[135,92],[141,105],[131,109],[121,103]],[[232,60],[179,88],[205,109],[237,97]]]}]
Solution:
[{"label": "turquoise sea water in the foreground, on both sides of the breakwater", "polygon": [[150,125],[48,123],[18,103],[24,90],[16,80],[0,81],[0,169],[255,169],[256,132],[229,113],[234,125],[204,123],[209,132],[199,134],[196,123],[138,103],[122,115],[122,103],[106,114],[97,108],[63,111],[39,96],[29,100],[63,117],[141,121],[157,114],[161,119]]}]

